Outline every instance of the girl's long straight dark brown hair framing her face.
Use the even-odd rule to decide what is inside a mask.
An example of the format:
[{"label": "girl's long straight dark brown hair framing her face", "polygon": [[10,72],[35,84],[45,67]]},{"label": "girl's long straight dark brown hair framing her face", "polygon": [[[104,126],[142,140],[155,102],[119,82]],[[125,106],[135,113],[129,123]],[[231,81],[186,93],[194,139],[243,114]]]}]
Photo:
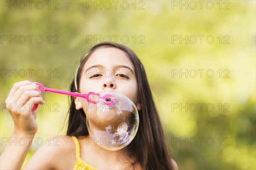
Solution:
[{"label": "girl's long straight dark brown hair framing her face", "polygon": [[[126,147],[130,155],[136,156],[136,161],[133,165],[139,163],[143,170],[175,169],[163,127],[152,98],[145,69],[137,55],[131,49],[117,43],[99,43],[93,46],[90,51],[81,58],[76,78],[74,78],[70,84],[70,91],[76,92],[75,79],[79,91],[81,71],[84,64],[97,48],[103,46],[121,49],[134,65],[138,86],[138,102],[141,104],[141,111],[139,111],[140,125],[137,135]],[[76,110],[74,98],[71,96],[70,99],[67,135],[89,135],[84,110]]]}]

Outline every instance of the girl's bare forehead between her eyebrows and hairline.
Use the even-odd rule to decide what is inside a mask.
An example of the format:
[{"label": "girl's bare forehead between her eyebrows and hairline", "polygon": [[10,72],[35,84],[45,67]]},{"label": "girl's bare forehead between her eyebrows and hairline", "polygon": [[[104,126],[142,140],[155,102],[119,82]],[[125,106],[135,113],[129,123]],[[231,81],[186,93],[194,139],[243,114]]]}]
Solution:
[{"label": "girl's bare forehead between her eyebrows and hairline", "polygon": [[128,56],[121,49],[114,47],[100,47],[96,49],[88,58],[84,67],[88,68],[93,65],[102,65],[111,67],[114,65],[125,65],[134,69]]}]

